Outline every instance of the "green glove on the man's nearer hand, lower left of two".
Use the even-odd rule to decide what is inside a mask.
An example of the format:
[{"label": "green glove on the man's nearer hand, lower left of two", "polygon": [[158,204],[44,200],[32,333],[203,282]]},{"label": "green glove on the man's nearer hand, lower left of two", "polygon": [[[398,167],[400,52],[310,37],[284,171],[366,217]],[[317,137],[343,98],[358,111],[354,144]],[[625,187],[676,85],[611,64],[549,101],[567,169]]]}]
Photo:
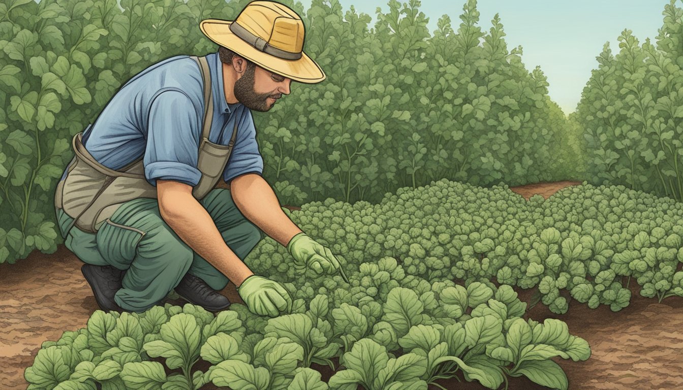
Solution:
[{"label": "green glove on the man's nearer hand, lower left of two", "polygon": [[285,288],[266,277],[251,275],[237,288],[247,308],[259,316],[277,317],[279,311],[292,309],[292,298]]}]

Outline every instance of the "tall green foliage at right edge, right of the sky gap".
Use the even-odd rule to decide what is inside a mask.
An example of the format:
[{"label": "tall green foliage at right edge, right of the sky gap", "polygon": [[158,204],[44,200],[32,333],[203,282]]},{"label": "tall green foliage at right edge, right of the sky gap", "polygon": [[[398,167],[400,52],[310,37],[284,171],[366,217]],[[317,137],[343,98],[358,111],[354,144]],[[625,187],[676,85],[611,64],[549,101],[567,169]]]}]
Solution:
[{"label": "tall green foliage at right edge, right of the sky gap", "polygon": [[656,44],[632,31],[609,44],[570,115],[585,132],[594,184],[623,184],[683,200],[683,10],[665,6]]}]

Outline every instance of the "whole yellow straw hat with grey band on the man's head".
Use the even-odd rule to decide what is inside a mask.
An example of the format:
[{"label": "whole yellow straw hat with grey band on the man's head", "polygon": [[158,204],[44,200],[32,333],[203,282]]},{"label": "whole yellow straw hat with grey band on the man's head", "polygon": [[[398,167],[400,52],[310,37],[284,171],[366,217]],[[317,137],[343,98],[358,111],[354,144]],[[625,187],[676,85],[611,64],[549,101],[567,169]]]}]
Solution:
[{"label": "whole yellow straw hat with grey band on the man's head", "polygon": [[296,12],[275,1],[252,1],[236,20],[204,19],[201,32],[258,66],[301,83],[325,74],[303,53],[304,26]]}]

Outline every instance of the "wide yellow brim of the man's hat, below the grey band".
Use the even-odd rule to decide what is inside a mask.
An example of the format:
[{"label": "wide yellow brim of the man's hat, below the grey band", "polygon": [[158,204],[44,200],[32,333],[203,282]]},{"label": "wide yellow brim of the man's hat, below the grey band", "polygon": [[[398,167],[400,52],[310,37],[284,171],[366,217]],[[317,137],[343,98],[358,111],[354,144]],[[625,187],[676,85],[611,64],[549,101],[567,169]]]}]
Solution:
[{"label": "wide yellow brim of the man's hat, below the grey band", "polygon": [[231,20],[205,19],[199,23],[201,32],[213,42],[234,51],[240,57],[253,61],[258,66],[289,77],[300,83],[315,84],[325,79],[325,73],[306,53],[301,53],[300,59],[281,59],[257,50],[242,38],[230,31]]}]

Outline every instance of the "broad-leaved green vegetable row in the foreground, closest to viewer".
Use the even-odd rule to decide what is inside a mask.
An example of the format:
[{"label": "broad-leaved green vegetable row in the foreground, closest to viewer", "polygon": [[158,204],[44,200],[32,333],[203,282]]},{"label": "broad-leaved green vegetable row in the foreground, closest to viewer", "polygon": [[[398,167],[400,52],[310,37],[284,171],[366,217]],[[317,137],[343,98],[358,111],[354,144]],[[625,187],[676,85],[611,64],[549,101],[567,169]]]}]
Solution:
[{"label": "broad-leaved green vegetable row in the foreground, closest to viewer", "polygon": [[[447,378],[497,389],[523,375],[567,389],[550,359],[585,360],[587,342],[560,320],[520,318],[525,308],[510,286],[475,282],[434,283],[419,296],[396,287],[386,301],[361,305],[318,294],[277,318],[240,304],[216,316],[189,303],[142,314],[96,311],[85,328],[44,342],[25,378],[29,390],[180,390],[208,382],[233,390],[426,390]],[[335,372],[324,382],[311,363]]]}]

